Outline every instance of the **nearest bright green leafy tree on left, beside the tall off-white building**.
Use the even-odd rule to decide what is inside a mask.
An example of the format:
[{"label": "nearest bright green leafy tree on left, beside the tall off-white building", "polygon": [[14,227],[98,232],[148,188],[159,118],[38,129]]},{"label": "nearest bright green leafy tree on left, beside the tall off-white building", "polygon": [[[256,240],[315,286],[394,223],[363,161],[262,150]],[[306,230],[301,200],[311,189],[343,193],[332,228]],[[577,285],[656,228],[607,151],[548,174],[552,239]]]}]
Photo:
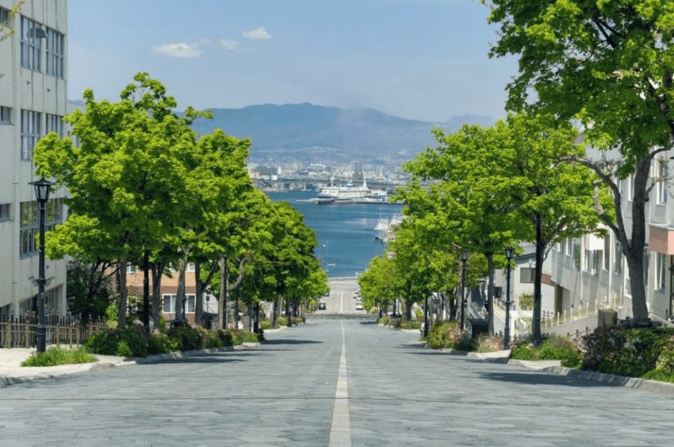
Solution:
[{"label": "nearest bright green leafy tree on left, beside the tall off-white building", "polygon": [[35,148],[38,172],[69,191],[69,216],[50,232],[47,253],[118,261],[120,328],[126,322],[126,265],[164,246],[167,234],[188,239],[204,196],[189,175],[196,146],[190,124],[204,114],[188,108],[179,117],[161,83],[145,73],[134,81],[117,103],[96,101],[92,90],[85,91],[85,112],[65,117],[80,146],[50,133]]}]

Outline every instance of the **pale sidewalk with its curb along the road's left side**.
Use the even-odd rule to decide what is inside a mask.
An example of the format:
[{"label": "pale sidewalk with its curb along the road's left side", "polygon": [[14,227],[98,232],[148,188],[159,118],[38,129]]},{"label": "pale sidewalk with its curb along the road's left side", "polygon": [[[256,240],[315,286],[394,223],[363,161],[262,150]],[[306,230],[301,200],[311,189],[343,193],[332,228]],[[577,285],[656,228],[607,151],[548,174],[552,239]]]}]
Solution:
[{"label": "pale sidewalk with its curb along the road's left side", "polygon": [[35,348],[0,348],[0,388],[14,385],[15,383],[33,382],[34,380],[49,380],[63,376],[71,376],[73,374],[116,368],[117,366],[159,363],[165,360],[176,360],[196,355],[206,355],[224,351],[238,351],[254,346],[259,346],[259,343],[244,343],[238,346],[224,346],[222,348],[201,349],[199,351],[149,355],[147,357],[118,357],[116,355],[94,354],[94,356],[97,357],[98,362],[26,367],[22,367],[21,362],[35,353]]}]

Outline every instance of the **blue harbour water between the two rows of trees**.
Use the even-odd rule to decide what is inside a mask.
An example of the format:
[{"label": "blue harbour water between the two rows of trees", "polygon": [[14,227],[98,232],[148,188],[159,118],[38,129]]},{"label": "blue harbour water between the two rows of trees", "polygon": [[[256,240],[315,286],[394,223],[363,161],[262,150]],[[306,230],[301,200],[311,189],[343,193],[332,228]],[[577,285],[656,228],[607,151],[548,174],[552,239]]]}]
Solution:
[{"label": "blue harbour water between the two rows of trees", "polygon": [[304,214],[307,226],[318,237],[316,257],[330,278],[357,276],[368,268],[370,259],[384,253],[385,244],[375,239],[375,226],[381,218],[391,219],[402,212],[402,205],[376,203],[354,205],[314,205],[298,203],[317,192],[268,192],[272,201],[288,201]]}]

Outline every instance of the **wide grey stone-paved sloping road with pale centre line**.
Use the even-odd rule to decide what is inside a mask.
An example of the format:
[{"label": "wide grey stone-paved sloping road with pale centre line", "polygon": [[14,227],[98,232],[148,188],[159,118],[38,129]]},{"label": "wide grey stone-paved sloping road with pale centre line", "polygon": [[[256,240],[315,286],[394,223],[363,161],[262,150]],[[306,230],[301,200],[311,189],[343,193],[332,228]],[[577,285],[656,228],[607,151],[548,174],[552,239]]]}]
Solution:
[{"label": "wide grey stone-paved sloping road with pale centre line", "polygon": [[673,444],[673,398],[435,353],[370,321],[268,338],[0,389],[0,446],[347,445],[345,430],[354,446]]}]

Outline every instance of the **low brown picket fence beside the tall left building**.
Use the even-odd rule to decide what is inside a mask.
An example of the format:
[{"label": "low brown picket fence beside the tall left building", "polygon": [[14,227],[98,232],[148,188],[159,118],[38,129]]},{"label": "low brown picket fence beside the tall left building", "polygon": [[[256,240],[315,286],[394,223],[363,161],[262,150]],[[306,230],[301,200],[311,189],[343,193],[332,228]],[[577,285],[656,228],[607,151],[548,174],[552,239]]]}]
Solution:
[{"label": "low brown picket fence beside the tall left building", "polygon": [[[82,344],[94,332],[106,327],[105,319],[82,319],[73,315],[44,316],[47,344]],[[35,314],[0,315],[0,346],[6,348],[35,346],[37,328],[38,317]]]}]

